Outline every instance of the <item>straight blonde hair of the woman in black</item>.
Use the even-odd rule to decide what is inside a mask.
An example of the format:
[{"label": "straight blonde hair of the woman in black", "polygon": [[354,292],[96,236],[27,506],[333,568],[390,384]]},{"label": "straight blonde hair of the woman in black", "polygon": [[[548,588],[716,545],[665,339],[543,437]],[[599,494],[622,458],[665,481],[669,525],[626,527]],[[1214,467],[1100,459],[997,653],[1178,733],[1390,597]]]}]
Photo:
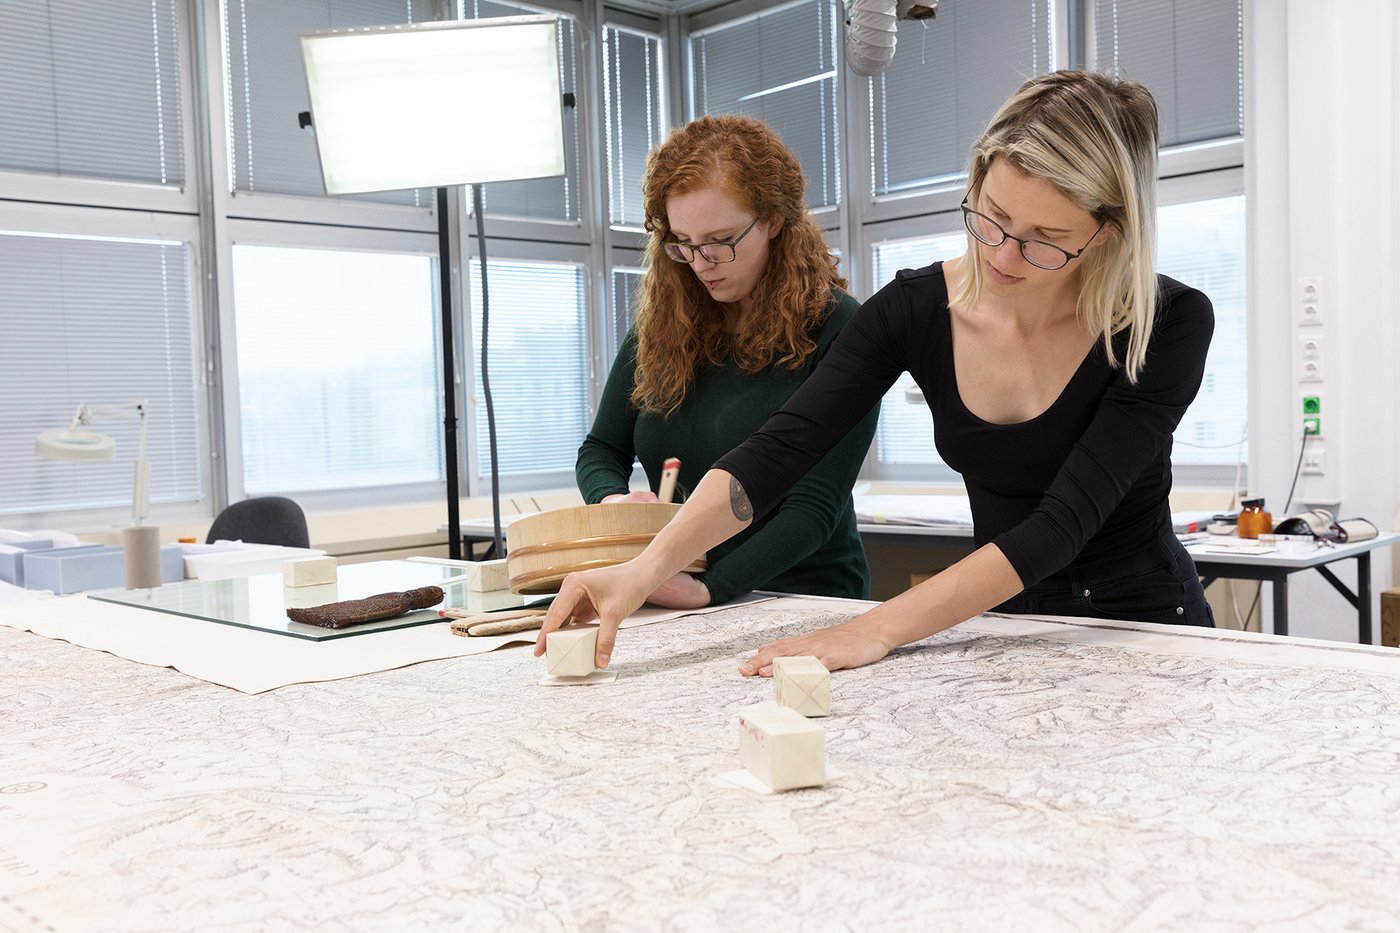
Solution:
[{"label": "straight blonde hair of the woman in black", "polygon": [[[1121,366],[1137,381],[1156,317],[1156,101],[1137,81],[1091,71],[1051,71],[1030,78],[1001,105],[972,147],[967,198],[976,205],[994,158],[1054,185],[1065,198],[1116,230],[1084,258],[1077,312],[1102,335],[1109,364],[1119,367],[1113,335],[1128,329]],[[967,234],[969,256],[979,242]],[[969,262],[953,303],[973,307],[983,272]]]}]

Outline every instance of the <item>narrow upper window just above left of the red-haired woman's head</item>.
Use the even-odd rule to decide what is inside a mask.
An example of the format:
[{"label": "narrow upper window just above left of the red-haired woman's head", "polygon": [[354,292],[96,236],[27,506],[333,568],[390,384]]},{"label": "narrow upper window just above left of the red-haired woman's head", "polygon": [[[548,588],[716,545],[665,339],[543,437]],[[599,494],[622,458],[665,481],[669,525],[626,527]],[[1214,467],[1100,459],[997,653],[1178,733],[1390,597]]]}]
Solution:
[{"label": "narrow upper window just above left of the red-haired woman's head", "polygon": [[603,28],[603,144],[608,147],[608,219],[615,227],[641,227],[641,178],[647,153],[666,132],[662,106],[661,41]]}]

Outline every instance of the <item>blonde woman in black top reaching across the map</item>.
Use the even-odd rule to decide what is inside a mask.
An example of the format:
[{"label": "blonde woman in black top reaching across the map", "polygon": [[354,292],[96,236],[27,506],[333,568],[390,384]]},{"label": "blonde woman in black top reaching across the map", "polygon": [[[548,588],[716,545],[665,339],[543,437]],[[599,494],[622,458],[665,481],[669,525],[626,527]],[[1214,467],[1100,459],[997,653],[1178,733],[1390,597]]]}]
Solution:
[{"label": "blonde woman in black top reaching across the map", "polygon": [[900,272],[801,391],[722,457],[629,565],[564,581],[540,633],[601,621],[598,663],[650,581],[762,514],[902,371],[972,499],[976,551],[843,625],[764,644],[830,670],[979,612],[1214,625],[1172,534],[1172,431],[1214,329],[1204,294],[1154,273],[1156,105],[1133,81],[1032,78],[973,146],[967,252]]}]

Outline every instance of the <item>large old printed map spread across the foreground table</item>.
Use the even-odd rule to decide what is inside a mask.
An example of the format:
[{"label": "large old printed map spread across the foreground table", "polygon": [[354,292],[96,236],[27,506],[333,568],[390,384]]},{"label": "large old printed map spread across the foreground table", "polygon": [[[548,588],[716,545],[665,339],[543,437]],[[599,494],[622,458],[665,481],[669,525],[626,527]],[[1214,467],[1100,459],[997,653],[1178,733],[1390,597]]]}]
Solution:
[{"label": "large old printed map spread across the foreground table", "polygon": [[834,675],[837,782],[724,783],[735,665],[860,608],[258,696],[0,629],[0,929],[1400,929],[1400,651],[974,619]]}]

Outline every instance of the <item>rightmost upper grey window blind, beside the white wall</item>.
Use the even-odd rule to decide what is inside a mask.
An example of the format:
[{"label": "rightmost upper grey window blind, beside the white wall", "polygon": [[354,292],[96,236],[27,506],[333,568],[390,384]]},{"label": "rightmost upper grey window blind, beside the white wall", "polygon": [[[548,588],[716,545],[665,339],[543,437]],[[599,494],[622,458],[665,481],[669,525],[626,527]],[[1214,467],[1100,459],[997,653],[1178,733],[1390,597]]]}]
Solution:
[{"label": "rightmost upper grey window blind, beside the white wall", "polygon": [[1239,137],[1243,22],[1242,0],[1095,0],[1095,66],[1152,91],[1162,147]]}]

